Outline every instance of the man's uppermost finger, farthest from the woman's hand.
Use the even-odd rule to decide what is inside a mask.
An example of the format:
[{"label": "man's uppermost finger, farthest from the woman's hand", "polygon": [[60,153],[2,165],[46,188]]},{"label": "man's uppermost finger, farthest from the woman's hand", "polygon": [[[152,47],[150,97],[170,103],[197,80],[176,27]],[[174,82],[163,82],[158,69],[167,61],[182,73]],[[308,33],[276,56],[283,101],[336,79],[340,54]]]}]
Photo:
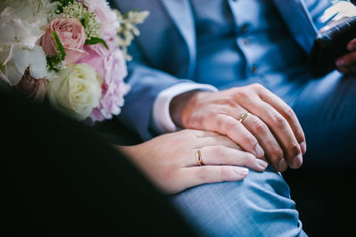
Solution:
[{"label": "man's uppermost finger, farthest from the woman's hand", "polygon": [[[271,105],[271,107],[277,110],[279,114],[282,115],[283,118],[287,120],[287,123],[292,129],[293,134],[295,135],[295,139],[297,143],[299,143],[300,149],[304,154],[306,152],[305,135],[303,132],[303,128],[300,125],[299,120],[295,115],[295,111],[292,110],[292,108],[290,108],[286,102],[280,99],[279,96],[271,93],[269,90],[267,90],[264,87],[262,87],[259,90],[259,95],[263,102],[266,102],[267,104]],[[274,120],[277,122],[276,123],[277,125],[279,125],[279,122],[282,122],[282,120],[279,117],[275,117]]]}]

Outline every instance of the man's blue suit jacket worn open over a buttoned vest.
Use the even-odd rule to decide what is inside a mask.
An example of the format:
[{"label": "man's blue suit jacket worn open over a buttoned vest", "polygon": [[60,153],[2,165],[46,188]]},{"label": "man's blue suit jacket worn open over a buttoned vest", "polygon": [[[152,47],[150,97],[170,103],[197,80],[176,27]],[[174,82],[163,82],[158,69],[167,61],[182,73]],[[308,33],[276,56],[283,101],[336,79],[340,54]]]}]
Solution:
[{"label": "man's blue suit jacket worn open over a buttoned vest", "polygon": [[[189,0],[115,0],[122,12],[150,11],[140,26],[141,36],[131,48],[128,83],[132,90],[125,97],[119,118],[143,139],[150,131],[153,103],[157,94],[185,79],[194,81],[196,35]],[[295,41],[309,53],[320,24],[317,18],[330,5],[329,0],[274,0]]]}]

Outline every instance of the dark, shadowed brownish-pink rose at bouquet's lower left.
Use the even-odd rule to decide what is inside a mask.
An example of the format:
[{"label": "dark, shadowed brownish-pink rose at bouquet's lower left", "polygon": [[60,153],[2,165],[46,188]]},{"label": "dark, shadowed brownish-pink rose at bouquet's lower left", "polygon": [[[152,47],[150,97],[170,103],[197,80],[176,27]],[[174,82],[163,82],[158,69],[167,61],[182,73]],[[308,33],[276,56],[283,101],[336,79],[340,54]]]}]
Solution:
[{"label": "dark, shadowed brownish-pink rose at bouquet's lower left", "polygon": [[29,69],[25,70],[20,82],[16,86],[12,86],[14,91],[27,96],[28,99],[36,100],[38,102],[44,101],[46,87],[47,80],[43,78],[32,78],[29,75]]}]

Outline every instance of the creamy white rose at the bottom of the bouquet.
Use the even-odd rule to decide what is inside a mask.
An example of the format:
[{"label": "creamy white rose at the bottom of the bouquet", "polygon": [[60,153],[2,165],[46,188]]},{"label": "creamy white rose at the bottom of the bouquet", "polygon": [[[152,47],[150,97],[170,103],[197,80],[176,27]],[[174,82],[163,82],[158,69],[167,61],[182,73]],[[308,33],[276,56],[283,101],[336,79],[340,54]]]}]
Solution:
[{"label": "creamy white rose at the bottom of the bouquet", "polygon": [[51,105],[77,120],[84,120],[101,98],[101,78],[86,63],[71,64],[48,84]]}]

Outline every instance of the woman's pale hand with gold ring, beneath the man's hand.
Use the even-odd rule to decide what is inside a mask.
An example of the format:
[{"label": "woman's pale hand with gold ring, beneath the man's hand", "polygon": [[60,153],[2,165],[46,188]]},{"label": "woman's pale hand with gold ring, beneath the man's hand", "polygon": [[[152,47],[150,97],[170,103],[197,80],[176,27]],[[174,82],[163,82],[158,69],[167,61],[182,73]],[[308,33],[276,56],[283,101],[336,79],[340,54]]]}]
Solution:
[{"label": "woman's pale hand with gold ring, beneath the man's hand", "polygon": [[[224,135],[198,130],[160,135],[135,146],[119,146],[154,184],[167,193],[207,183],[238,181],[248,169],[263,171],[267,163]],[[205,166],[200,166],[200,149]],[[243,168],[247,167],[247,168]]]}]

